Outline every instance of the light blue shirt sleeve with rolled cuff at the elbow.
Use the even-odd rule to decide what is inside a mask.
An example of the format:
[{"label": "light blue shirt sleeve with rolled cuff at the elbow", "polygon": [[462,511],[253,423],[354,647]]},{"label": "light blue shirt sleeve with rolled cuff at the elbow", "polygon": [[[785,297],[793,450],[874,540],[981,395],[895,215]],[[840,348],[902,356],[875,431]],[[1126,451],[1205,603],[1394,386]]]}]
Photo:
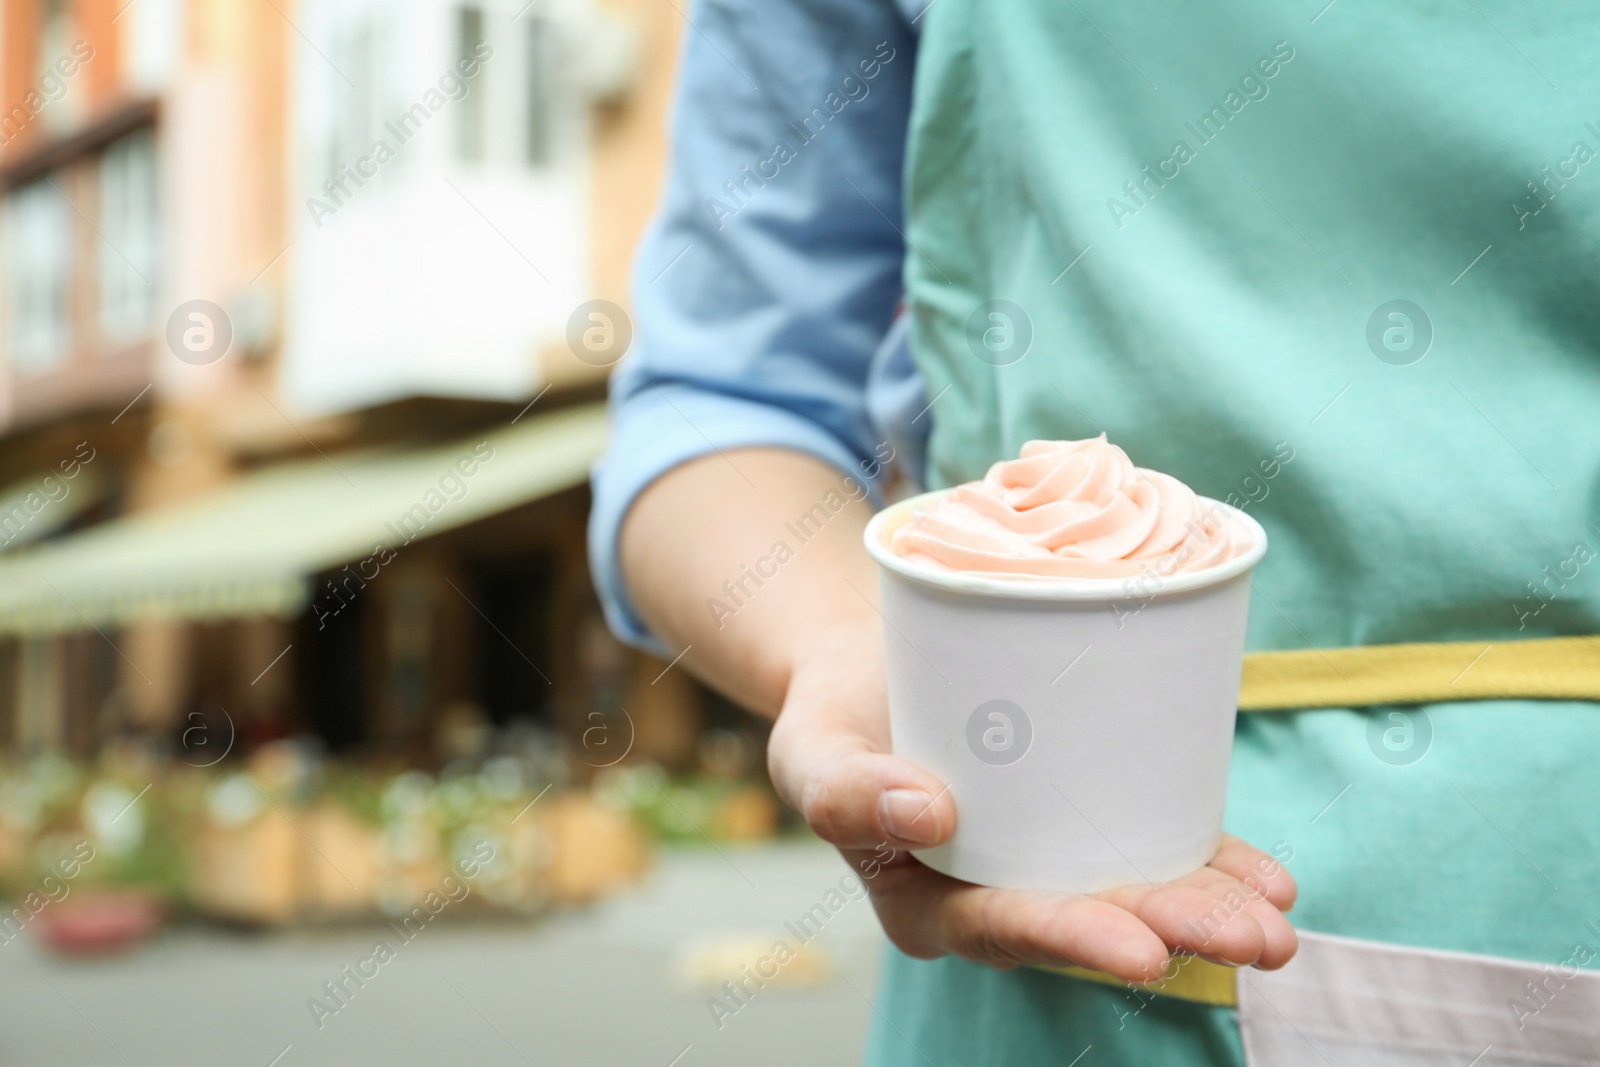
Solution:
[{"label": "light blue shirt sleeve with rolled cuff at the elbow", "polygon": [[867,379],[901,298],[915,51],[915,10],[891,0],[701,0],[688,19],[667,186],[634,264],[634,347],[611,381],[589,523],[606,621],[669,656],[616,555],[653,480],[770,445],[877,491]]}]

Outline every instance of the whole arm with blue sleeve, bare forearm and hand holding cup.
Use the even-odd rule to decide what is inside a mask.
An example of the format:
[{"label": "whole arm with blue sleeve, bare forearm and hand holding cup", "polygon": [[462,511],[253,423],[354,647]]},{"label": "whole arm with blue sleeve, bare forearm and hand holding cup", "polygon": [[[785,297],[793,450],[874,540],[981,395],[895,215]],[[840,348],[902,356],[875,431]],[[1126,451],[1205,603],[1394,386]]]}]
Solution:
[{"label": "whole arm with blue sleeve, bare forearm and hand holding cup", "polygon": [[[806,0],[760,6],[800,19],[766,53],[779,34],[757,27],[755,10],[696,8],[667,206],[635,285],[637,350],[613,386],[611,453],[595,480],[592,555],[613,625],[776,717],[774,785],[864,875],[902,950],[1080,963],[1131,981],[1160,974],[1168,949],[1283,963],[1294,934],[1278,907],[1293,880],[1243,845],[1178,885],[1098,897],[971,886],[907,851],[946,840],[958,814],[942,782],[890,753],[877,579],[861,544],[872,507],[845,478],[864,490],[880,454],[862,395],[899,296],[891,219],[912,43],[886,3]],[[778,118],[803,114],[880,43],[896,58],[878,62],[870,96],[738,213],[709,221],[706,202],[765,155],[763,134],[789,136]],[[829,56],[826,78],[794,72],[808,48]],[[786,531],[840,490],[819,534],[800,544]],[[784,539],[792,558],[757,571],[760,584],[746,577]],[[1202,941],[1230,891],[1246,904]]]}]

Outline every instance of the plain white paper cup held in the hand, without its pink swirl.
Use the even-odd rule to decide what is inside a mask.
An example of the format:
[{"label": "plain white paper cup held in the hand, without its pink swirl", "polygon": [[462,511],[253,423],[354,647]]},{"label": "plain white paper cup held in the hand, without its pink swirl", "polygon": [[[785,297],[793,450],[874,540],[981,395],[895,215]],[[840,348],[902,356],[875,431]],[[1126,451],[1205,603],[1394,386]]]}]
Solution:
[{"label": "plain white paper cup held in the hand, without its pink swirl", "polygon": [[938,774],[955,833],[917,857],[989,886],[1096,893],[1216,853],[1250,609],[1267,534],[1198,573],[1035,579],[890,550],[926,493],[867,526],[894,753]]}]

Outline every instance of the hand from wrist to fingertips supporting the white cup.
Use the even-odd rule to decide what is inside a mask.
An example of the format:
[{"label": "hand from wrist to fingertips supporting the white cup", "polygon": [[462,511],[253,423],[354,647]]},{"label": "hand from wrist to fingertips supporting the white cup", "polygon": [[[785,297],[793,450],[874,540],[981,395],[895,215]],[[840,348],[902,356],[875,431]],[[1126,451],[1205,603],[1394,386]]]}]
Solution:
[{"label": "hand from wrist to fingertips supporting the white cup", "polygon": [[922,865],[907,849],[947,840],[958,816],[939,779],[890,753],[877,621],[851,624],[795,664],[768,763],[782,798],[862,875],[907,955],[1075,963],[1131,982],[1158,979],[1173,952],[1264,969],[1294,955],[1283,918],[1294,880],[1237,838],[1176,881],[1093,896],[992,889]]}]

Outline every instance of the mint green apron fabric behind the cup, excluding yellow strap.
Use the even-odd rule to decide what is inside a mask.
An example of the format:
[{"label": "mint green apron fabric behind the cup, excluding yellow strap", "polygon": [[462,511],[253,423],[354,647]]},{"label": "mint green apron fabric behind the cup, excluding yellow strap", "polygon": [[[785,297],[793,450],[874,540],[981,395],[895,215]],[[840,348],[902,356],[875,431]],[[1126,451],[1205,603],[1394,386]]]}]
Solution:
[{"label": "mint green apron fabric behind the cup, excluding yellow strap", "polygon": [[[936,0],[922,26],[931,485],[1107,432],[1267,528],[1254,649],[1600,632],[1592,5]],[[1251,713],[1227,825],[1296,875],[1302,928],[1557,963],[1600,950],[1597,760],[1592,704]],[[1240,1062],[1226,1009],[1026,969],[890,952],[870,1064]]]}]

